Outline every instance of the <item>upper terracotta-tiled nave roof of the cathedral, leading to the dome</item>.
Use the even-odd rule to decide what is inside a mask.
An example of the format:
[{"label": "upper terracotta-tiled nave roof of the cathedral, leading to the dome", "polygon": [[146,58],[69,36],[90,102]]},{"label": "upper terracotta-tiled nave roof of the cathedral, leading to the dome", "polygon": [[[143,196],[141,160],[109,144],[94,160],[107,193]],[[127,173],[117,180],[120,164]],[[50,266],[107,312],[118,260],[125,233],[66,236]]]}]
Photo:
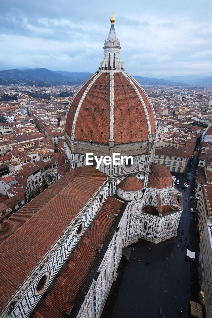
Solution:
[{"label": "upper terracotta-tiled nave roof of the cathedral, leading to the dome", "polygon": [[0,225],[0,308],[106,179],[91,166],[72,169]]}]

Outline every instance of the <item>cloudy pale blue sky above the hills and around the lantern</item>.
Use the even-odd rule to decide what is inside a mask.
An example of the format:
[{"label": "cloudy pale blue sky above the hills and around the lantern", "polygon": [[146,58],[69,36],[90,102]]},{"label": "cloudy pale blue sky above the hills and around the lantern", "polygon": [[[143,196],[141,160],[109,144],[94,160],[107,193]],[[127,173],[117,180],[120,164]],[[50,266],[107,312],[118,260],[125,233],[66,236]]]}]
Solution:
[{"label": "cloudy pale blue sky above the hills and around the lantern", "polygon": [[112,11],[127,72],[212,76],[211,0],[2,1],[0,70],[95,72]]}]

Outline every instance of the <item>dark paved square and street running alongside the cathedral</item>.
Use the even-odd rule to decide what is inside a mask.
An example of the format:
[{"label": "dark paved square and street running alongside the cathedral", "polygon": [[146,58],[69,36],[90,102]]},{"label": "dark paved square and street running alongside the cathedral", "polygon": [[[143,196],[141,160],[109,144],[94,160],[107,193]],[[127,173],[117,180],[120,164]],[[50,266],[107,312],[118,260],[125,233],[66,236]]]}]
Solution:
[{"label": "dark paved square and street running alongside the cathedral", "polygon": [[[181,241],[178,235],[177,238],[159,245],[139,240],[138,243],[128,247],[131,249],[130,259],[125,263],[126,266],[123,263],[125,269],[118,269],[123,272],[120,285],[116,287],[117,293],[115,295],[113,293],[113,298],[110,298],[109,294],[110,300],[106,303],[101,318],[106,318],[107,315],[111,318],[155,318],[159,316],[161,306],[164,318],[177,317],[179,311],[182,311],[181,316],[187,317],[190,301],[199,302],[198,253],[192,262],[193,271],[190,261],[185,256],[187,252],[185,245],[189,244],[188,249],[197,252],[199,246],[198,219],[195,211],[197,201],[194,194],[197,156],[198,152],[195,152],[194,158],[191,159],[194,164],[189,165],[188,174],[172,173],[176,176],[175,186],[183,193],[183,211],[179,226],[179,235],[184,230],[183,240]],[[181,186],[186,178],[190,179],[190,182],[184,193]],[[180,181],[178,185],[177,180]],[[190,200],[191,195],[194,197],[193,200]],[[191,207],[194,213],[190,212]]]}]

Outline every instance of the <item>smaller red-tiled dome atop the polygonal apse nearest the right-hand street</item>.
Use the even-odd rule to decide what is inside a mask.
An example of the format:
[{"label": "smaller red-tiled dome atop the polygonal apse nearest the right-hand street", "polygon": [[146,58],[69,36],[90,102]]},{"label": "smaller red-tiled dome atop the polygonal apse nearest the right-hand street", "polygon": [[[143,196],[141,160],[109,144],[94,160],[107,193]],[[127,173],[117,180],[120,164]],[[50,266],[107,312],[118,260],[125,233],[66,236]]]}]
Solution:
[{"label": "smaller red-tiled dome atop the polygonal apse nearest the right-hand street", "polygon": [[160,163],[152,163],[147,186],[155,189],[171,187],[171,172]]}]

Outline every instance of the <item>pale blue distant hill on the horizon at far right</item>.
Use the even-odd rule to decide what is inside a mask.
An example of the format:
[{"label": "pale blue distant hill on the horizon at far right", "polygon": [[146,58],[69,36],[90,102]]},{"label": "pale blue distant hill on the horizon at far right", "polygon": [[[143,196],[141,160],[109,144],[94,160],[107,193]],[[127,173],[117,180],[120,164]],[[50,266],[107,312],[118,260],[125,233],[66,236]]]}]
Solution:
[{"label": "pale blue distant hill on the horizon at far right", "polygon": [[180,81],[189,85],[212,85],[212,77],[205,75],[186,75],[164,77],[165,80]]}]

